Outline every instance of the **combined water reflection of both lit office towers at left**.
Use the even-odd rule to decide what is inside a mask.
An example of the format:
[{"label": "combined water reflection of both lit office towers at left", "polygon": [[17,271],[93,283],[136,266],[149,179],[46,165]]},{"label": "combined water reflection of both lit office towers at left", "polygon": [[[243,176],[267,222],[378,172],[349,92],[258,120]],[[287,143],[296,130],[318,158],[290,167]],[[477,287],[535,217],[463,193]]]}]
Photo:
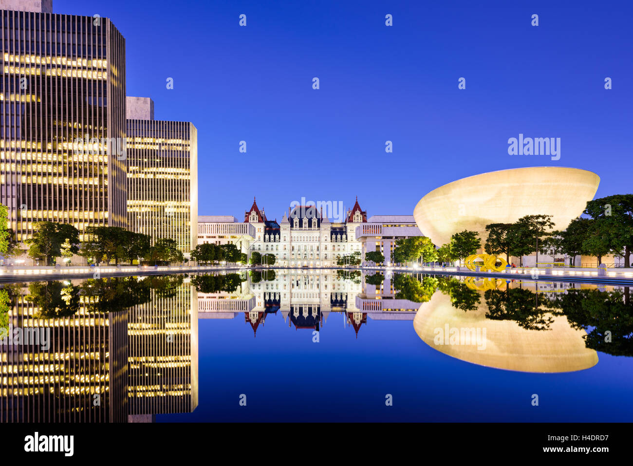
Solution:
[{"label": "combined water reflection of both lit office towers at left", "polygon": [[[197,406],[197,311],[182,275],[0,290],[2,422],[147,422]],[[30,343],[35,343],[31,341]]]}]

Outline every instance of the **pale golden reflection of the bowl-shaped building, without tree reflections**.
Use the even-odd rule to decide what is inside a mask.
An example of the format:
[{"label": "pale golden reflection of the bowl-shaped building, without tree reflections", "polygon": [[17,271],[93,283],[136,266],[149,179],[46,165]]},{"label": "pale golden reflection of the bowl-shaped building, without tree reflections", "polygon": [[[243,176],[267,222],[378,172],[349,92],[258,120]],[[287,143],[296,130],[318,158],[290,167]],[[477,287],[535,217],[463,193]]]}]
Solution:
[{"label": "pale golden reflection of the bowl-shaped building, without tree reflections", "polygon": [[[482,299],[476,310],[463,311],[451,304],[446,294],[435,293],[420,306],[413,327],[431,348],[463,361],[521,372],[572,372],[598,363],[598,353],[586,348],[584,330],[572,329],[563,316],[553,317],[549,329],[528,330],[513,320],[486,317]],[[476,344],[449,344],[437,339],[445,329],[486,329]]]}]

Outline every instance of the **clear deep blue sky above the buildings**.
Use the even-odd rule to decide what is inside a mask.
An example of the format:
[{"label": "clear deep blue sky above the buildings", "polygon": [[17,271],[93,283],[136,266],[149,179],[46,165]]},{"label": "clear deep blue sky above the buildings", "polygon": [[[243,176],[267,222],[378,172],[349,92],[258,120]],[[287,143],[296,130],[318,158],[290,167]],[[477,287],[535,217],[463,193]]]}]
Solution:
[{"label": "clear deep blue sky above the buildings", "polygon": [[[53,11],[112,18],[127,94],[196,125],[200,215],[241,218],[257,196],[280,219],[302,197],[351,208],[356,195],[369,215],[410,214],[452,180],[541,165],[598,173],[599,197],[631,192],[630,3],[426,4],[54,0]],[[508,155],[519,133],[560,137],[560,160]]]}]

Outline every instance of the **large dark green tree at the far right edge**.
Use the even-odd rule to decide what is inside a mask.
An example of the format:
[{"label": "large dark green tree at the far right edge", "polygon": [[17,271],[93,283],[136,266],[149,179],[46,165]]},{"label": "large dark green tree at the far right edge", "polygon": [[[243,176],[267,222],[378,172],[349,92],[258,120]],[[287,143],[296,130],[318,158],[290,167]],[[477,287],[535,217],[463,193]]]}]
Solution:
[{"label": "large dark green tree at the far right edge", "polygon": [[624,267],[630,267],[633,253],[633,194],[615,194],[587,202],[584,213],[606,222],[611,231],[610,246],[622,251]]}]

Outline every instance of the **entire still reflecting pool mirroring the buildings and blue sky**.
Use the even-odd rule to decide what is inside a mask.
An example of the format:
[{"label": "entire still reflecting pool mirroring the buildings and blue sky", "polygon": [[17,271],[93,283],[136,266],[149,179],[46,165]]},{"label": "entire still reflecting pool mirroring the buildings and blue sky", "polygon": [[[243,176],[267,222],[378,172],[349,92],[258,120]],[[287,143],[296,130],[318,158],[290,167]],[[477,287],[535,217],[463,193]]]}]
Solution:
[{"label": "entire still reflecting pool mirroring the buildings and blue sky", "polygon": [[633,418],[626,287],[342,270],[30,282],[0,288],[0,332],[2,422]]}]

